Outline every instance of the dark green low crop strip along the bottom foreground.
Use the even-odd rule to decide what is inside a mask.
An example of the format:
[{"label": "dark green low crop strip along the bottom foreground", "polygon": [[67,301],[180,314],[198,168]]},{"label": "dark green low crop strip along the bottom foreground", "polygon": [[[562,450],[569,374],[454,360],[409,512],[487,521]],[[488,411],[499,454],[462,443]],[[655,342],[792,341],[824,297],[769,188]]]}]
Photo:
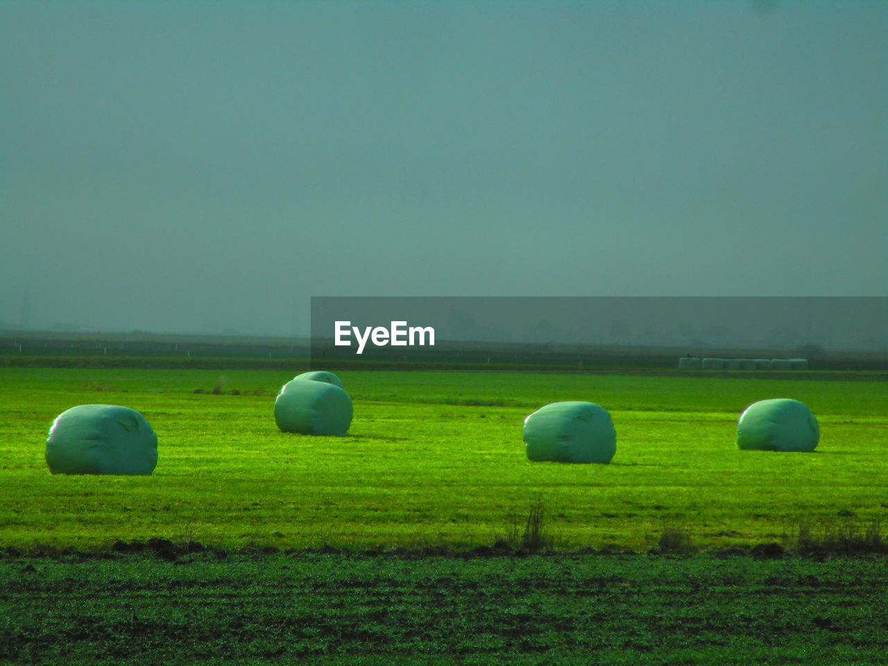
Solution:
[{"label": "dark green low crop strip along the bottom foreground", "polygon": [[876,664],[882,559],[0,560],[15,664]]}]

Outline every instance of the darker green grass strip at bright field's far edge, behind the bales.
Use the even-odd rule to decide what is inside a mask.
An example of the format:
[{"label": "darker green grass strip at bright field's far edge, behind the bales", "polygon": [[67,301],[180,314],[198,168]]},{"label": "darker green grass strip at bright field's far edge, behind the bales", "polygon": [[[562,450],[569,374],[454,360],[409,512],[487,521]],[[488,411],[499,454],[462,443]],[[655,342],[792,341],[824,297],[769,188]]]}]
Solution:
[{"label": "darker green grass strip at bright field's far edge, behind the bales", "polygon": [[[239,399],[267,403],[281,385],[301,370],[142,370],[142,369],[0,369],[0,388],[23,392],[192,393],[210,391],[219,380]],[[739,412],[756,400],[792,397],[817,415],[884,415],[886,381],[822,381],[765,377],[638,377],[528,372],[387,372],[337,373],[354,400],[424,402],[472,407],[541,407],[556,400],[589,400],[610,410]],[[888,373],[884,376],[888,379]],[[251,393],[262,391],[263,395]],[[250,394],[247,394],[250,393]],[[218,400],[191,395],[186,400]],[[529,413],[529,412],[528,412]],[[55,415],[53,415],[55,416]]]}]

